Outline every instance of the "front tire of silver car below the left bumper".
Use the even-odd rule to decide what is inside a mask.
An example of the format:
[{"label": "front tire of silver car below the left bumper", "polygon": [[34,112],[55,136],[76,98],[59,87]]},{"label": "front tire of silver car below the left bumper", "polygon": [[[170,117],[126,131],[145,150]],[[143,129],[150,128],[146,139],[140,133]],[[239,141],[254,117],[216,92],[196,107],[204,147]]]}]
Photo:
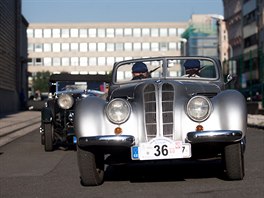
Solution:
[{"label": "front tire of silver car below the left bumper", "polygon": [[77,159],[83,186],[98,186],[104,182],[104,156],[77,146]]}]

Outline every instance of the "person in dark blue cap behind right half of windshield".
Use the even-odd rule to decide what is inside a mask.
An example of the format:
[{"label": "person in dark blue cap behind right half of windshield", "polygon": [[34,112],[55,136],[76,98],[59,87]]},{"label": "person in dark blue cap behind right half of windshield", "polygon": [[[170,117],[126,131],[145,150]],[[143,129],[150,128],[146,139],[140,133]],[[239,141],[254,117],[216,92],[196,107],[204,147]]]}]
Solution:
[{"label": "person in dark blue cap behind right half of windshield", "polygon": [[200,61],[195,59],[186,60],[183,64],[185,68],[186,77],[199,77],[199,71],[201,68]]}]

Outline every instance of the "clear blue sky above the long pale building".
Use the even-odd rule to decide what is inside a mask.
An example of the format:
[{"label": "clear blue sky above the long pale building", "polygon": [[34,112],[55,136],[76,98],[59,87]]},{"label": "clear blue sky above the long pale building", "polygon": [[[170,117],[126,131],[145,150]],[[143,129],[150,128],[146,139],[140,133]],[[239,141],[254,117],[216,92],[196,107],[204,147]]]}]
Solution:
[{"label": "clear blue sky above the long pale building", "polygon": [[29,23],[186,22],[223,15],[222,0],[22,0]]}]

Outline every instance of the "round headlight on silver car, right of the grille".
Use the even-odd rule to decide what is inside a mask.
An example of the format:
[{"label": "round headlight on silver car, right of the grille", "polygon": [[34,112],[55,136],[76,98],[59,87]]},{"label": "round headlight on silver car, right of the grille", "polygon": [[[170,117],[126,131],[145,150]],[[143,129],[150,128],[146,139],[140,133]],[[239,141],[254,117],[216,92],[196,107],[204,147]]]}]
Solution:
[{"label": "round headlight on silver car, right of the grille", "polygon": [[210,100],[204,96],[194,96],[187,103],[188,116],[196,121],[205,121],[211,113],[212,104]]}]

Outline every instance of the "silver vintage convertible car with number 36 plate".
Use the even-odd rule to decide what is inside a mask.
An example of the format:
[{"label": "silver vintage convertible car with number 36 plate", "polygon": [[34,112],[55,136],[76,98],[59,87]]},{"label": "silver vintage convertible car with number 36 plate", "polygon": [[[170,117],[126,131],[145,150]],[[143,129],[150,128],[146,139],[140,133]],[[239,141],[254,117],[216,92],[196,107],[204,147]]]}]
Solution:
[{"label": "silver vintage convertible car with number 36 plate", "polygon": [[76,108],[81,184],[102,184],[108,162],[216,157],[228,180],[243,179],[247,109],[230,81],[211,57],[115,63],[107,100],[87,97]]}]

